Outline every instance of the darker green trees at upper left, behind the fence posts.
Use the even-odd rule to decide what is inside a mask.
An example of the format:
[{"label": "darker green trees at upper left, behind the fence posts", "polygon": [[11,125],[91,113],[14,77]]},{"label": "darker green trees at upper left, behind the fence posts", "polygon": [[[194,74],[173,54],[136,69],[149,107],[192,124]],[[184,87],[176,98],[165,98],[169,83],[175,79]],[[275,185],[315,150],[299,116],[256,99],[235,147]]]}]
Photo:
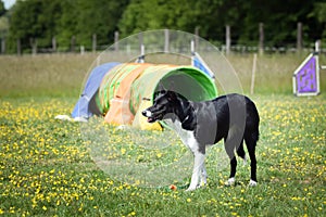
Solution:
[{"label": "darker green trees at upper left, behind the fence posts", "polygon": [[18,0],[12,9],[10,37],[14,44],[21,39],[23,49],[37,38],[39,47],[70,50],[72,38],[76,46],[90,47],[92,34],[99,44],[113,41],[114,30],[128,0]]}]

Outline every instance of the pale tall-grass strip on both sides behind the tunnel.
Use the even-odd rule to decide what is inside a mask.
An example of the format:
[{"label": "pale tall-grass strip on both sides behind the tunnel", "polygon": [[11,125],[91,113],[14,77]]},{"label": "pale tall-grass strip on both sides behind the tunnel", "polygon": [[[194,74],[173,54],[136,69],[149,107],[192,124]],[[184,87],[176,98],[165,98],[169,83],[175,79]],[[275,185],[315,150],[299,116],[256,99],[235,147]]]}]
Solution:
[{"label": "pale tall-grass strip on both sides behind the tunnel", "polygon": [[[112,53],[112,55],[116,55]],[[258,56],[255,93],[292,92],[292,73],[308,54]],[[78,97],[82,82],[97,54],[53,54],[0,56],[0,97],[70,95]],[[250,91],[252,54],[229,55],[244,92]],[[167,59],[166,59],[167,60]],[[158,60],[155,60],[158,61]],[[321,64],[326,65],[325,55]],[[321,72],[322,91],[326,90],[326,72]]]}]

